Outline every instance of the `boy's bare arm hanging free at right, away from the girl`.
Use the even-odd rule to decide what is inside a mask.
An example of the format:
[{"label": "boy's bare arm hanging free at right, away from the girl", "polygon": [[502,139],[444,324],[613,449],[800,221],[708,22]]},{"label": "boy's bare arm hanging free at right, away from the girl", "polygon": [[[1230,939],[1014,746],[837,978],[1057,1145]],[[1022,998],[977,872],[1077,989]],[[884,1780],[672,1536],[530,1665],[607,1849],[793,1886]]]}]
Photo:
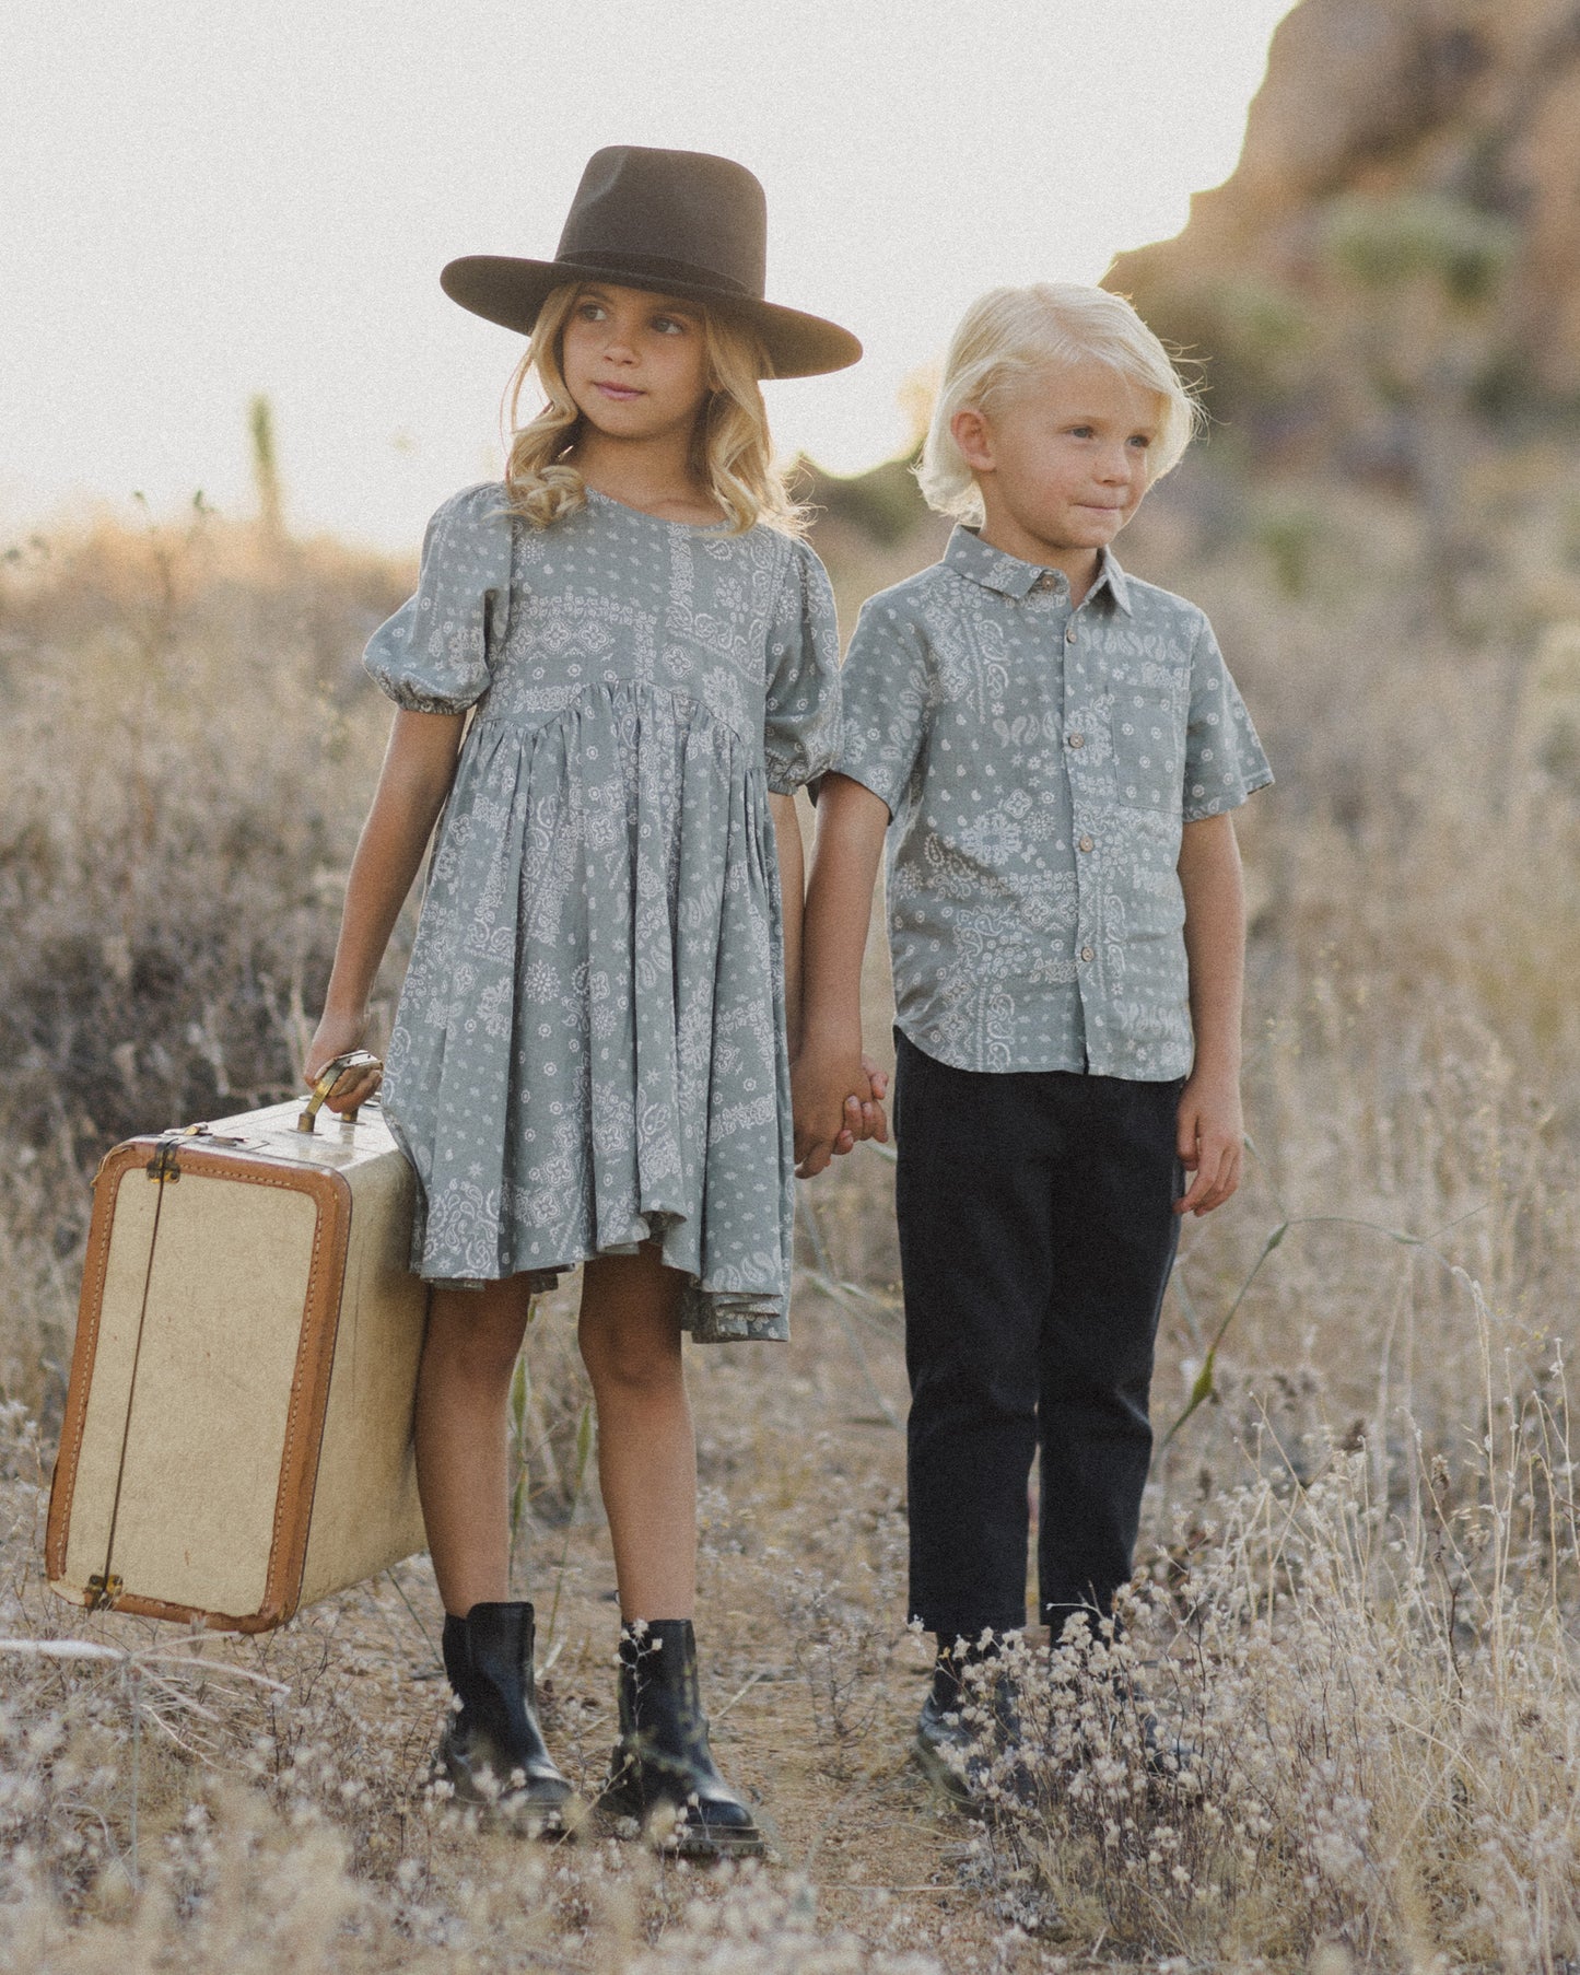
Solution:
[{"label": "boy's bare arm hanging free at right, away from the girl", "polygon": [[1228,814],[1185,824],[1179,841],[1195,1065],[1179,1096],[1179,1161],[1191,1175],[1175,1213],[1209,1215],[1240,1185],[1240,1005],[1246,907]]}]

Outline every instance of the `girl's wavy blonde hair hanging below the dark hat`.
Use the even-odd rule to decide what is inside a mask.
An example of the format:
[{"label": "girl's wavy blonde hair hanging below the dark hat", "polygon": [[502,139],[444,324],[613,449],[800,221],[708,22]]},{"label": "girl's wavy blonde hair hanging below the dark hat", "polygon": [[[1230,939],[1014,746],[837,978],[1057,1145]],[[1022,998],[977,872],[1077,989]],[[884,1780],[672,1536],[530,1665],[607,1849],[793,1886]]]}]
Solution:
[{"label": "girl's wavy blonde hair hanging below the dark hat", "polygon": [[[565,458],[581,434],[581,411],[561,365],[565,324],[579,294],[581,282],[549,292],[527,352],[506,385],[506,506],[531,527],[549,527],[587,504],[587,482]],[[705,336],[707,397],[697,413],[691,468],[723,510],[725,533],[745,535],[758,521],[790,535],[800,533],[802,510],[790,500],[772,462],[768,407],[758,385],[758,377],[770,371],[766,352],[745,322],[713,308],[697,308],[697,314]],[[533,373],[545,405],[521,425],[521,391]]]}]

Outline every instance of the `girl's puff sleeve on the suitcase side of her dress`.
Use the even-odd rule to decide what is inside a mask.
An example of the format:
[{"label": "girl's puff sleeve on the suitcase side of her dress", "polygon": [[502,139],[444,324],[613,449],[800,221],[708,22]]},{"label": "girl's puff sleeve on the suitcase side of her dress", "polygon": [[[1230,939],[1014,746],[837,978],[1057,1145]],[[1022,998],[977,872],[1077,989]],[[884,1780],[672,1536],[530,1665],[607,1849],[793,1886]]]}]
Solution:
[{"label": "girl's puff sleeve on the suitcase side of her dress", "polygon": [[510,620],[512,519],[504,488],[464,488],[429,521],[423,573],[367,640],[363,666],[411,713],[464,713],[488,691]]}]

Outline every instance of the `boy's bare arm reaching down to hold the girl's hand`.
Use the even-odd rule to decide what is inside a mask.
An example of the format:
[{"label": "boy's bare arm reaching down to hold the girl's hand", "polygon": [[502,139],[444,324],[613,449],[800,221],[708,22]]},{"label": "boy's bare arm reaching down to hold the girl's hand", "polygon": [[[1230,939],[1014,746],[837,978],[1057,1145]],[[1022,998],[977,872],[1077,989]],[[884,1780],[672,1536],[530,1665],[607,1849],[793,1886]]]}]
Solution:
[{"label": "boy's bare arm reaching down to hold the girl's hand", "polygon": [[881,796],[845,774],[824,778],[806,893],[802,1047],[790,1070],[796,1171],[804,1179],[830,1163],[849,1092],[869,1088],[861,1059],[861,960],[887,828],[889,806]]}]

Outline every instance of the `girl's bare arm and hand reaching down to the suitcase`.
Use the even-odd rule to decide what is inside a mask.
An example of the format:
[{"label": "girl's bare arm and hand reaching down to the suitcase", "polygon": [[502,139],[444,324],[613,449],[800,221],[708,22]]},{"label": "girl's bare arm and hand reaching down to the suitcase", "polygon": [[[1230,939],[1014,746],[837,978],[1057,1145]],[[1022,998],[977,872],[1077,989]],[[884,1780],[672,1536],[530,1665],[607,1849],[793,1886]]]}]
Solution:
[{"label": "girl's bare arm and hand reaching down to the suitcase", "polygon": [[[361,1047],[367,1031],[367,995],[450,792],[464,725],[464,713],[401,709],[395,715],[373,808],[361,826],[346,879],[346,908],[324,995],[324,1015],[304,1065],[308,1082],[332,1057]],[[361,1104],[375,1084],[377,1078],[348,1084],[336,1092],[332,1108],[350,1110]]]}]

